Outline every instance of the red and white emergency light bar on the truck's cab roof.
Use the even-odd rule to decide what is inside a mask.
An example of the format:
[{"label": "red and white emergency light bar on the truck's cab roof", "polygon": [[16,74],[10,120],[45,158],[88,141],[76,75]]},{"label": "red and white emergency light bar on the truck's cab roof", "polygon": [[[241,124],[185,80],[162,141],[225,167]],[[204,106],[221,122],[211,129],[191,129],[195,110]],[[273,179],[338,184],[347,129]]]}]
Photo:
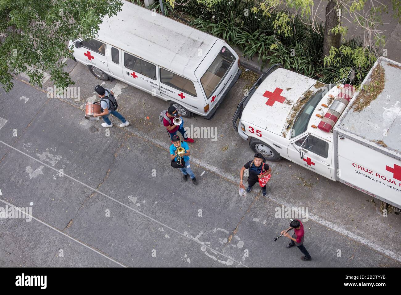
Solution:
[{"label": "red and white emergency light bar on the truck's cab roof", "polygon": [[338,118],[340,118],[342,112],[344,112],[346,106],[354,95],[354,92],[355,87],[352,85],[345,84],[343,88],[341,87],[340,93],[337,95],[336,99],[318,125],[320,130],[330,132]]}]

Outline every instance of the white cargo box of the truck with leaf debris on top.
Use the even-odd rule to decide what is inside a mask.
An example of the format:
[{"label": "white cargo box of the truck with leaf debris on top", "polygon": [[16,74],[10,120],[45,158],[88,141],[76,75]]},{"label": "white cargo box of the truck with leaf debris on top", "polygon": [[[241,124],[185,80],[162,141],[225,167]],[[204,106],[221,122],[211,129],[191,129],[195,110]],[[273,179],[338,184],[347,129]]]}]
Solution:
[{"label": "white cargo box of the truck with leaf debris on top", "polygon": [[336,180],[401,208],[401,64],[379,58],[363,85],[379,83],[372,81],[378,63],[383,91],[359,111],[358,91],[333,128]]}]

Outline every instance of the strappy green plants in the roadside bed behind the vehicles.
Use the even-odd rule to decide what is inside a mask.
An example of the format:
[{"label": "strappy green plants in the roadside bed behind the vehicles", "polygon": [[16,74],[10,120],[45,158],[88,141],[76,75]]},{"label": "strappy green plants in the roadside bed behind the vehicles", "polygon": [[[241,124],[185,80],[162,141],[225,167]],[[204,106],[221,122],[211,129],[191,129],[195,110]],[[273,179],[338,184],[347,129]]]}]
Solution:
[{"label": "strappy green plants in the roadside bed behind the vehicles", "polygon": [[[343,44],[341,51],[332,49],[325,64],[321,58],[323,36],[316,32],[324,31],[321,22],[314,24],[314,31],[301,15],[284,14],[267,6],[255,10],[254,4],[253,0],[220,0],[206,7],[190,0],[179,11],[194,17],[190,25],[238,46],[251,59],[257,57],[261,67],[282,63],[285,69],[324,83],[343,79],[353,68],[360,83],[375,61],[369,50],[362,49],[360,40],[351,39]],[[300,0],[300,4],[310,5],[310,1]]]}]

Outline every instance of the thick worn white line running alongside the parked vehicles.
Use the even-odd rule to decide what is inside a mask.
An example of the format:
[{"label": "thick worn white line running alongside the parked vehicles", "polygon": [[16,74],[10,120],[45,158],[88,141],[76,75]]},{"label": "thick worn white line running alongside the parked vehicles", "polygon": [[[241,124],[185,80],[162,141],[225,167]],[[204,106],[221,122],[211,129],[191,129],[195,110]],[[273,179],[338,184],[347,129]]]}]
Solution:
[{"label": "thick worn white line running alongside the parked vehicles", "polygon": [[[138,136],[138,137],[142,137],[142,138],[148,140],[149,142],[153,143],[156,146],[160,146],[163,149],[169,150],[170,145],[167,144],[164,141],[158,140],[156,138],[153,138],[153,137],[149,136],[148,134],[144,134],[144,133],[138,132],[136,130],[135,131],[130,130],[130,132],[133,133],[134,135]],[[223,171],[223,170],[221,170],[221,169],[219,169],[219,168],[217,168],[217,167],[215,167],[213,165],[210,165],[209,163],[206,163],[206,162],[204,162],[202,160],[199,160],[199,159],[196,159],[196,158],[192,157],[191,158],[191,162],[196,164],[196,165],[199,165],[199,166],[201,166],[203,168],[206,168],[209,171],[212,171],[212,172],[216,173],[217,175],[220,175],[221,177],[232,181],[233,183],[237,183],[238,182],[237,181],[238,180],[238,176],[228,174],[225,171]],[[245,171],[247,171],[247,170],[245,170]],[[278,197],[273,197],[271,194],[268,197],[273,202],[275,202],[277,204],[280,204],[280,205],[284,205],[285,207],[290,207],[290,208],[296,208],[297,207],[297,206],[295,206],[293,204],[287,203],[283,199],[280,199]],[[358,242],[360,244],[363,244],[363,245],[365,245],[365,246],[367,246],[369,248],[372,248],[373,250],[375,250],[377,252],[380,252],[380,253],[382,253],[384,255],[387,255],[387,256],[389,256],[389,257],[401,262],[401,255],[400,254],[395,253],[395,252],[393,252],[391,250],[388,250],[388,249],[386,249],[386,248],[384,248],[382,246],[379,246],[378,244],[376,244],[376,243],[374,243],[374,242],[372,242],[372,241],[370,241],[370,240],[368,240],[366,238],[360,237],[360,236],[358,236],[358,235],[356,235],[356,234],[354,234],[354,233],[342,228],[341,226],[338,226],[337,224],[334,224],[334,223],[329,222],[329,221],[327,221],[327,220],[325,220],[323,218],[320,218],[319,216],[314,215],[311,212],[309,212],[308,218],[310,220],[313,220],[314,222],[320,224],[320,225],[326,226],[326,227],[338,232],[339,234],[347,236],[348,238],[351,238],[351,239],[355,240],[356,242]]]}]

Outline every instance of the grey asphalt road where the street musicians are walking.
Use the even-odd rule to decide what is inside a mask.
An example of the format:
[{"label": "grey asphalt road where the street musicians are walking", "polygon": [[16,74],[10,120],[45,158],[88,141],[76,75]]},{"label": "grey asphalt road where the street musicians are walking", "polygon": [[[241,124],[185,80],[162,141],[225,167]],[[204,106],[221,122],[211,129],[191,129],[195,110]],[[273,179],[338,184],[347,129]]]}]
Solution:
[{"label": "grey asphalt road where the street musicians are walking", "polygon": [[[103,82],[67,63],[79,101],[49,98],[50,80],[40,89],[23,76],[10,93],[0,91],[0,207],[31,207],[34,218],[0,219],[0,266],[401,266],[399,216],[383,217],[379,201],[341,183],[283,160],[269,163],[267,197],[256,187],[239,196],[239,169],[253,153],[231,117],[247,81],[239,79],[213,120],[185,119],[217,128],[215,141],[190,144],[194,186],[170,167],[158,121],[165,102],[106,81],[131,123],[108,134],[83,111]],[[285,237],[273,242],[289,226],[275,218],[282,205],[308,208],[304,245],[312,261],[286,249]]]}]

